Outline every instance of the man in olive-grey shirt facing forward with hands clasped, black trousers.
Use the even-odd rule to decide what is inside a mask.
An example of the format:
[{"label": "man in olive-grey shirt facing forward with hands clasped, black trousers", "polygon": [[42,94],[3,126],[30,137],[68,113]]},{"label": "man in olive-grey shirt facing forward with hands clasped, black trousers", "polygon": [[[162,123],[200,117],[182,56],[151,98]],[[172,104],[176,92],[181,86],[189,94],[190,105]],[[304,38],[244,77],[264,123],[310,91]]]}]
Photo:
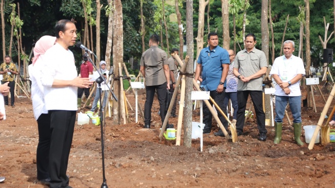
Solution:
[{"label": "man in olive-grey shirt facing forward with hands clasped, black trousers", "polygon": [[[240,51],[235,58],[233,74],[238,82],[238,106],[236,129],[238,136],[243,133],[245,108],[250,94],[256,112],[259,140],[266,141],[265,114],[263,111],[262,85],[267,70],[265,53],[256,49],[256,36],[249,33],[245,36],[246,49]],[[240,71],[240,72],[239,72]]]}]

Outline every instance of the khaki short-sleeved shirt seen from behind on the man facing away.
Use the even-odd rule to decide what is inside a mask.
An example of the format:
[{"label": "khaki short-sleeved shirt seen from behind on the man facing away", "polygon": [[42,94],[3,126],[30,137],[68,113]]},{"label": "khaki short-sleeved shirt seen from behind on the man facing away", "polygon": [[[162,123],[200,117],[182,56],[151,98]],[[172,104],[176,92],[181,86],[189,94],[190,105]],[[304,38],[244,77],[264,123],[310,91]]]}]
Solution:
[{"label": "khaki short-sleeved shirt seen from behind on the man facing away", "polygon": [[141,58],[141,66],[145,66],[145,84],[147,86],[162,85],[166,81],[163,65],[169,65],[167,54],[157,46],[147,49]]}]

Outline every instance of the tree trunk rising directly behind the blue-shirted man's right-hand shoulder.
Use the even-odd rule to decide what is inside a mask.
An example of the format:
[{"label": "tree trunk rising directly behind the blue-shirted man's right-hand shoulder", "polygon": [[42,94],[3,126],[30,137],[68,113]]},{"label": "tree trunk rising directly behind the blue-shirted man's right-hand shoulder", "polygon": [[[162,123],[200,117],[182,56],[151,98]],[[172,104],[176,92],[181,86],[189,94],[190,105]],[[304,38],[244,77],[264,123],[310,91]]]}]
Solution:
[{"label": "tree trunk rising directly behind the blue-shirted man's right-hand shoulder", "polygon": [[222,32],[223,32],[223,48],[226,50],[230,49],[230,36],[229,36],[229,4],[228,0],[221,0],[222,7]]}]

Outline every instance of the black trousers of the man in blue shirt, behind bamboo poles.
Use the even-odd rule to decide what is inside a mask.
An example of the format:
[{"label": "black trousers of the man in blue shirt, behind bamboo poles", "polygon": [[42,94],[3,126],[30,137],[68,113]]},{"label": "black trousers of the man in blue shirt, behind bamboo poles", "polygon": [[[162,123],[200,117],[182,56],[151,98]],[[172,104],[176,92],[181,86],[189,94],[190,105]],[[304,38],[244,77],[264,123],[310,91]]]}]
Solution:
[{"label": "black trousers of the man in blue shirt, behind bamboo poles", "polygon": [[[209,95],[215,101],[215,103],[219,105],[219,107],[221,108],[221,110],[227,116],[227,109],[223,107],[223,101],[225,99],[225,91],[223,91],[221,93],[217,93],[216,90],[212,90],[212,91],[209,91]],[[212,106],[213,103],[210,100],[208,100],[208,101],[209,101],[210,105]],[[228,122],[227,122],[227,120],[222,116],[222,114],[219,112],[219,110],[217,110],[217,111],[218,111],[218,117],[219,117],[221,123],[223,124],[223,126],[225,127],[225,129],[228,130]],[[210,132],[210,130],[212,128],[212,118],[213,118],[213,115],[209,111],[209,109],[208,109],[208,107],[207,107],[206,104],[203,104],[203,113],[204,113],[203,123],[205,124],[204,132]]]}]

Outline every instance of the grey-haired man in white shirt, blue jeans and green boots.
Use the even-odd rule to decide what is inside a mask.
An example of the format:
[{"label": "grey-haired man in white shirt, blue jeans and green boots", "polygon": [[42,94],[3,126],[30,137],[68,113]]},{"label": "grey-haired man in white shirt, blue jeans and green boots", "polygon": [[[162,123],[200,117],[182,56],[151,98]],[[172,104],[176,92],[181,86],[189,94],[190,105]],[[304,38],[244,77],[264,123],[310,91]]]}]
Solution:
[{"label": "grey-haired man in white shirt, blue jeans and green boots", "polygon": [[277,83],[275,90],[275,138],[273,143],[279,144],[282,139],[282,127],[285,108],[290,106],[293,116],[294,140],[299,146],[304,143],[301,136],[301,91],[300,80],[305,74],[304,63],[301,58],[295,57],[294,42],[285,41],[284,55],[273,62],[270,74]]}]

